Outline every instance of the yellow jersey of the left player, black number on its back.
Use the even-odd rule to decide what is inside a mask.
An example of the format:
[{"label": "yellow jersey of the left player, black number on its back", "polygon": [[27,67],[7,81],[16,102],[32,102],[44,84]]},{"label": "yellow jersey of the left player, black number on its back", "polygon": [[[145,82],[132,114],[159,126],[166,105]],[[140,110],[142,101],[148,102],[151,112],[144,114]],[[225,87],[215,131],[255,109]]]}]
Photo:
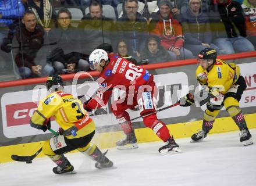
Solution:
[{"label": "yellow jersey of the left player, black number on its back", "polygon": [[95,130],[94,121],[84,110],[81,101],[63,91],[54,92],[42,99],[31,121],[42,125],[45,119],[52,116],[64,131],[76,128],[73,135],[68,135],[67,138],[83,137]]}]

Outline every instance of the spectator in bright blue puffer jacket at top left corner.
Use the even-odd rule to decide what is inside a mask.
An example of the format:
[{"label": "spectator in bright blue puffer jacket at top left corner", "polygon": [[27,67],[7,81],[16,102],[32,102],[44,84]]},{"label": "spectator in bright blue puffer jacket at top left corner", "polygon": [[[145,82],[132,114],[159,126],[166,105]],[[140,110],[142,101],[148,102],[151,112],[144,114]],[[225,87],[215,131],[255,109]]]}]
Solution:
[{"label": "spectator in bright blue puffer jacket at top left corner", "polygon": [[[10,68],[11,56],[9,53],[12,38],[15,34],[15,22],[23,16],[24,6],[20,0],[0,1],[0,69]],[[17,20],[17,21],[16,21]],[[10,32],[9,32],[10,30]],[[10,33],[8,35],[8,33]],[[9,46],[9,47],[8,47]],[[3,52],[4,51],[4,52]]]}]

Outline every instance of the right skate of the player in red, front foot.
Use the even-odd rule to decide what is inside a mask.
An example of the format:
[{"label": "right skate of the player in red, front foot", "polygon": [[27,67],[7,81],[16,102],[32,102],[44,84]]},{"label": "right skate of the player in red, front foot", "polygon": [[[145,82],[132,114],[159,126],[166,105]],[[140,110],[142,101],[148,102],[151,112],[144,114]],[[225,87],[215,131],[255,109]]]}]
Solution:
[{"label": "right skate of the player in red, front foot", "polygon": [[173,153],[181,153],[182,150],[179,148],[179,145],[176,144],[175,140],[173,140],[173,136],[170,137],[166,141],[166,145],[163,145],[161,148],[158,150],[162,155],[165,154],[173,154]]}]

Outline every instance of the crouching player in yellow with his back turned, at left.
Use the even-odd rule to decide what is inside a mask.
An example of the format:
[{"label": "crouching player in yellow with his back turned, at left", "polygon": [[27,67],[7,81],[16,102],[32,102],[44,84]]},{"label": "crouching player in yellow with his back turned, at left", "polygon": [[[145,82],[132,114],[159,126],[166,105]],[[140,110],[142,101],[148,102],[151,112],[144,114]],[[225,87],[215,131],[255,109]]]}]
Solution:
[{"label": "crouching player in yellow with his back turned, at left", "polygon": [[51,128],[50,117],[53,116],[61,127],[60,135],[47,140],[42,146],[42,152],[57,164],[53,169],[54,173],[75,173],[74,167],[63,155],[74,149],[94,159],[95,167],[98,169],[112,167],[111,160],[91,142],[95,133],[94,121],[83,109],[79,99],[63,92],[61,76],[49,76],[46,85],[51,94],[40,101],[31,117],[30,125],[46,131]]}]

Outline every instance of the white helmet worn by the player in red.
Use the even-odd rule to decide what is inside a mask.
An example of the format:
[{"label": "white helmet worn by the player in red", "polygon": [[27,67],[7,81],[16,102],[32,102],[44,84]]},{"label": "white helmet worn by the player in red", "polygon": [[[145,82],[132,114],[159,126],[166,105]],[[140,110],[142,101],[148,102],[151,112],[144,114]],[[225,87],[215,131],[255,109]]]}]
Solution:
[{"label": "white helmet worn by the player in red", "polygon": [[101,60],[108,60],[108,53],[102,49],[95,49],[89,56],[90,69],[95,70],[95,64],[101,66]]}]

